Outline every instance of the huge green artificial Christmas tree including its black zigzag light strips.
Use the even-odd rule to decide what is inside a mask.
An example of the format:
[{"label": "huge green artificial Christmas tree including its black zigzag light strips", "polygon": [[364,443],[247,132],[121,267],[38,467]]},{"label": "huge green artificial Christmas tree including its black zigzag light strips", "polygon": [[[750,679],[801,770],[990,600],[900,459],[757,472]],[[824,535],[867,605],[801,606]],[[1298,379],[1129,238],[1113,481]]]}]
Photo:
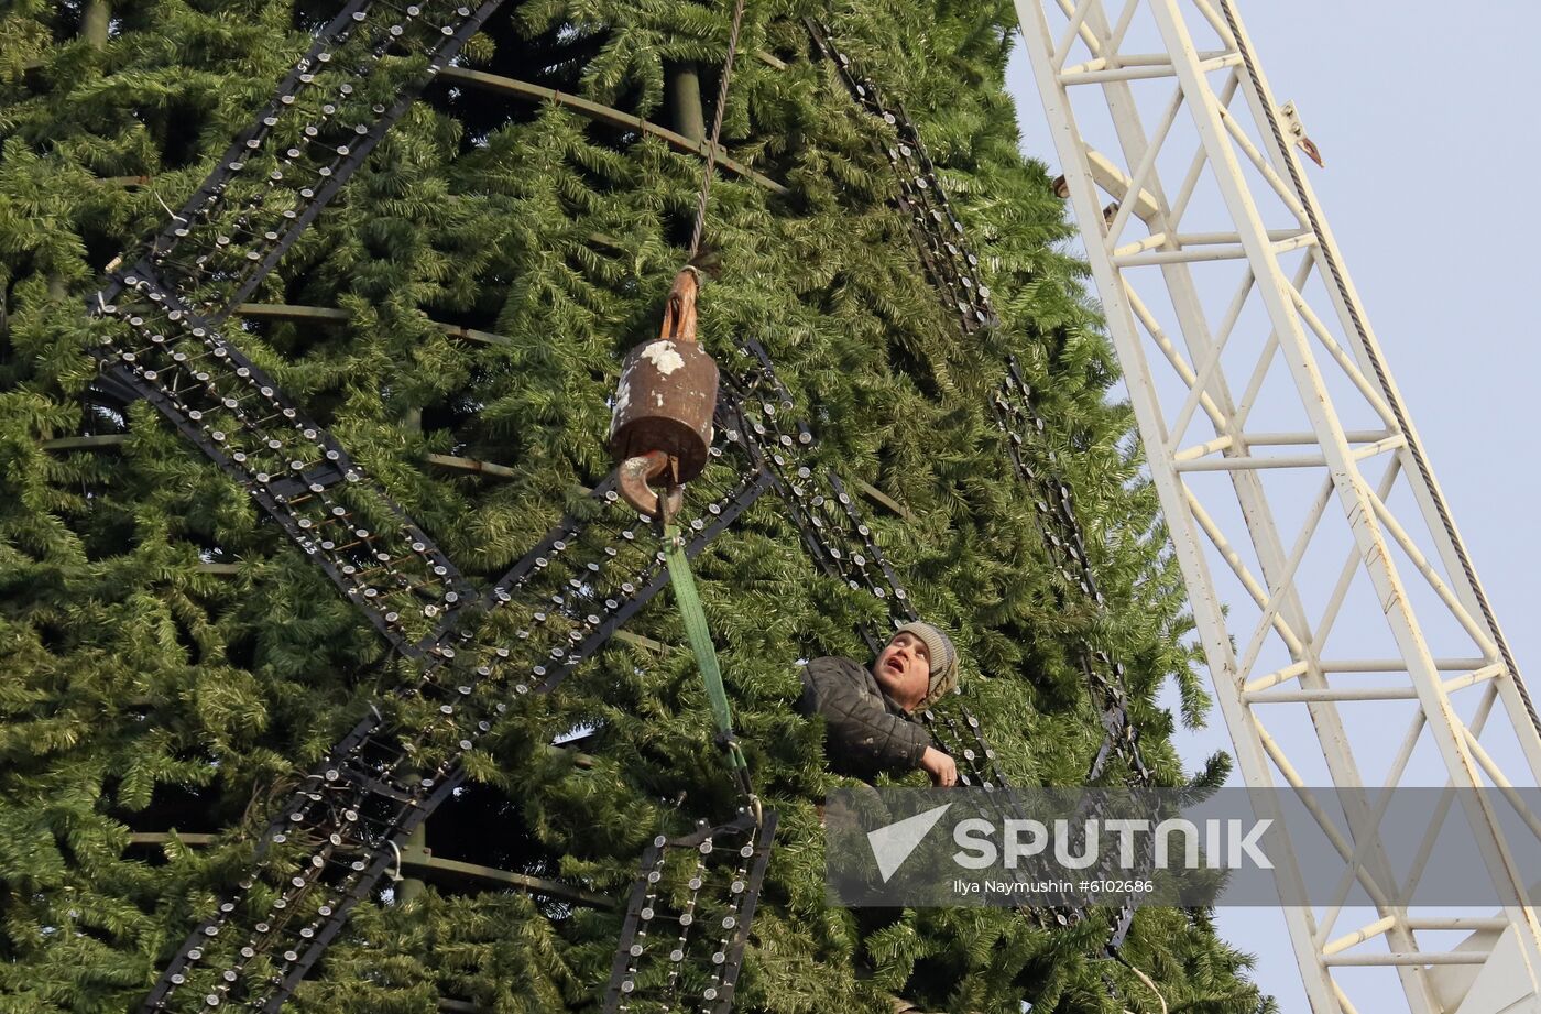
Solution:
[{"label": "huge green artificial Christmas tree including its black zigzag light strips", "polygon": [[[288,1009],[598,1009],[644,849],[735,818],[604,445],[689,245],[730,12],[493,6],[350,5],[334,46],[328,5],[0,15],[0,1011],[257,1009],[300,979]],[[1012,784],[1180,784],[1151,700],[1177,680],[1204,710],[1068,227],[1016,149],[1008,23],[746,11],[700,304],[730,382],[683,513],[778,815],[734,1009],[1265,1006],[1202,912],[1139,914],[1120,962],[1108,912],[824,900],[838,780],[798,660],[920,609],[968,672],[938,737],[974,720]],[[917,225],[938,206],[962,233]]]}]

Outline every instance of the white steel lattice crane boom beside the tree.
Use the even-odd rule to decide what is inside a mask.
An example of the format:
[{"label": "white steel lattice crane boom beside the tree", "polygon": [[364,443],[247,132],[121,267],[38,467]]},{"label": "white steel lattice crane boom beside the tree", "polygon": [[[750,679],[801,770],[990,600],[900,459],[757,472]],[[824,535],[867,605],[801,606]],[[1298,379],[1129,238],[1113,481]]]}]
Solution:
[{"label": "white steel lattice crane boom beside the tree", "polygon": [[[1342,902],[1285,909],[1313,1011],[1351,1014],[1373,980],[1341,968],[1367,965],[1396,969],[1418,1014],[1541,1009],[1541,923],[1489,795],[1459,794],[1458,814],[1502,929],[1465,945],[1461,972],[1419,937],[1449,920],[1379,891],[1390,789],[1535,784],[1541,737],[1305,182],[1298,120],[1230,0],[1017,0],[1017,14],[1241,772],[1302,791],[1310,764],[1345,791],[1376,917],[1345,932]],[[1384,626],[1342,621],[1361,599]],[[1362,658],[1330,661],[1344,646]],[[1371,806],[1361,766],[1382,760],[1390,692],[1412,724]],[[1270,734],[1290,720],[1296,735]],[[1304,871],[1279,866],[1298,889]],[[1501,1000],[1504,980],[1524,985]],[[1373,997],[1365,1009],[1385,1009]]]}]

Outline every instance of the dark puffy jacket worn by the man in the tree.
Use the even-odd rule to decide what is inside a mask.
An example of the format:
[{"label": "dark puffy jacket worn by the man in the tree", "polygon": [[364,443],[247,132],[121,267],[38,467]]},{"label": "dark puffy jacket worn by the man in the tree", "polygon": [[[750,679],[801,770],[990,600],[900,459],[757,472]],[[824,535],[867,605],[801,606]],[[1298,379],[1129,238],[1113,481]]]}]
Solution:
[{"label": "dark puffy jacket worn by the man in the tree", "polygon": [[931,735],[883,693],[869,670],[849,658],[826,656],[807,663],[801,677],[798,710],[824,717],[831,771],[871,781],[880,772],[900,775],[920,767]]}]

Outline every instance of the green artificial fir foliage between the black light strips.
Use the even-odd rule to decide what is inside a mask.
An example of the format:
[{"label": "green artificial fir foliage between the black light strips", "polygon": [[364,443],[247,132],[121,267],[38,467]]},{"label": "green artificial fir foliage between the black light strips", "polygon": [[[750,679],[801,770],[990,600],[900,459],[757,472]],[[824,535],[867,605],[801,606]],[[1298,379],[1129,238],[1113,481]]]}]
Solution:
[{"label": "green artificial fir foliage between the black light strips", "polygon": [[[230,478],[146,404],[91,388],[86,299],[108,262],[196,190],[331,12],[17,0],[0,14],[0,1014],[134,1009],[296,777],[413,678]],[[938,305],[892,205],[886,128],[803,17],[905,103],[1000,327],[965,337]],[[1154,698],[1176,681],[1180,720],[1204,720],[1183,587],[1130,410],[1105,399],[1116,364],[1065,253],[1071,228],[1019,151],[1011,23],[999,0],[749,2],[724,153],[784,193],[720,171],[701,337],[724,368],[740,337],[763,342],[817,461],[903,507],[860,502],[922,615],[955,632],[965,700],[1017,784],[1085,778],[1102,743],[1077,666],[1088,643],[1128,666],[1147,761],[1182,784]],[[710,123],[727,25],[729,5],[693,0],[509,0],[459,63],[664,128],[670,94],[698,80]],[[485,587],[609,472],[619,362],[656,333],[700,173],[698,154],[569,103],[430,85],[250,297],[342,313],[236,316],[227,336]],[[1008,356],[1049,422],[1105,610],[1062,604],[1012,478],[989,408]],[[57,444],[80,435],[122,439]],[[1014,911],[831,908],[815,804],[841,780],[794,713],[795,663],[863,658],[860,627],[886,615],[815,570],[775,495],[695,570],[740,738],[781,815],[735,1009],[1162,1009],[1102,952],[1105,912],[1046,929]],[[627,630],[647,641],[612,641],[470,754],[467,786],[427,823],[433,855],[624,905],[655,834],[723,817],[732,797],[669,595]],[[616,911],[410,881],[356,909],[290,1009],[598,1011]],[[1173,1014],[1274,1009],[1202,912],[1140,912],[1122,955]]]}]

